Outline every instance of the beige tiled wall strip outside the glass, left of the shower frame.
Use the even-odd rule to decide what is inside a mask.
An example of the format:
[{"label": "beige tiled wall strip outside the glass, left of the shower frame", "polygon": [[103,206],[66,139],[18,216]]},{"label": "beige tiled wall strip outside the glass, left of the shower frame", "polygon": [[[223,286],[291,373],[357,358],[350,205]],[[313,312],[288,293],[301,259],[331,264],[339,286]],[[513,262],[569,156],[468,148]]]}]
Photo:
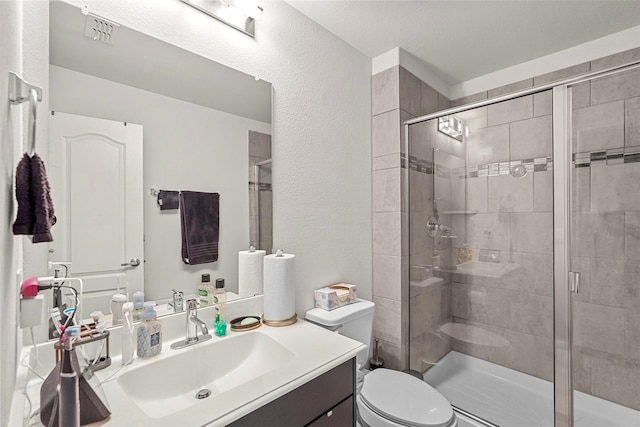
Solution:
[{"label": "beige tiled wall strip outside the glass, left of the shower frame", "polygon": [[435,89],[401,66],[372,77],[372,224],[374,337],[385,366],[407,368],[408,212],[404,208],[402,123],[449,107]]}]

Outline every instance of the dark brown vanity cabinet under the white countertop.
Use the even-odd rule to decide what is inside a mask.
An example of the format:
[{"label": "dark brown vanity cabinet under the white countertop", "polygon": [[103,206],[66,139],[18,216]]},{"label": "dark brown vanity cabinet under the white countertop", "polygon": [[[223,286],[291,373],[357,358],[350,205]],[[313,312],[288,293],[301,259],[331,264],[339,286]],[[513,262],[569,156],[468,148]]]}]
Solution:
[{"label": "dark brown vanity cabinet under the white countertop", "polygon": [[245,415],[230,426],[355,426],[355,358]]}]

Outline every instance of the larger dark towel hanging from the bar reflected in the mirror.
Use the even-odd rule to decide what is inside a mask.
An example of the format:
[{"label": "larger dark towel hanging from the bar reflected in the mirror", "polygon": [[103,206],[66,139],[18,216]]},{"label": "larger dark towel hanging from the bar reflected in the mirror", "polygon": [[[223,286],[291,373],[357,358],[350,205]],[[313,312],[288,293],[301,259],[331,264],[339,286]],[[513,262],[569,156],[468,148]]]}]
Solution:
[{"label": "larger dark towel hanging from the bar reflected in the mirror", "polygon": [[185,264],[204,264],[218,260],[220,195],[180,192],[182,260]]}]

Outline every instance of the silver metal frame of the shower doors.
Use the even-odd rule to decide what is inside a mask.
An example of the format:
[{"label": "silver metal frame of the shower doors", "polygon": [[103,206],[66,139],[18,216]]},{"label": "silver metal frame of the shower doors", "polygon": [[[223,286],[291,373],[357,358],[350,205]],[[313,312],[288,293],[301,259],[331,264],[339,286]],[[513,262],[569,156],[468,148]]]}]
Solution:
[{"label": "silver metal frame of the shower doors", "polygon": [[[621,71],[640,68],[640,61],[590,72],[580,76],[556,81],[535,88],[524,89],[483,101],[449,108],[436,113],[404,122],[404,158],[401,159],[404,186],[404,206],[409,212],[409,126],[440,117],[473,110],[479,107],[509,101],[528,95],[552,90],[552,133],[553,133],[553,351],[554,351],[554,426],[573,427],[573,378],[572,378],[572,335],[573,316],[571,294],[577,284],[569,268],[571,266],[571,90],[577,84],[616,74]],[[409,357],[409,355],[407,355]],[[407,361],[408,362],[408,361]],[[407,363],[407,366],[409,364]]]}]

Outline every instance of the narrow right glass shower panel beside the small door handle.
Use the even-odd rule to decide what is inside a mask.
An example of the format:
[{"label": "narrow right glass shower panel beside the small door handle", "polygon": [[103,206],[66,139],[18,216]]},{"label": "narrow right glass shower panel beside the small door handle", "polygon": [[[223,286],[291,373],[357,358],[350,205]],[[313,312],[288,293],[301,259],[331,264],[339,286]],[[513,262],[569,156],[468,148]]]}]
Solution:
[{"label": "narrow right glass shower panel beside the small door handle", "polygon": [[639,426],[640,68],[567,99],[574,425]]}]

